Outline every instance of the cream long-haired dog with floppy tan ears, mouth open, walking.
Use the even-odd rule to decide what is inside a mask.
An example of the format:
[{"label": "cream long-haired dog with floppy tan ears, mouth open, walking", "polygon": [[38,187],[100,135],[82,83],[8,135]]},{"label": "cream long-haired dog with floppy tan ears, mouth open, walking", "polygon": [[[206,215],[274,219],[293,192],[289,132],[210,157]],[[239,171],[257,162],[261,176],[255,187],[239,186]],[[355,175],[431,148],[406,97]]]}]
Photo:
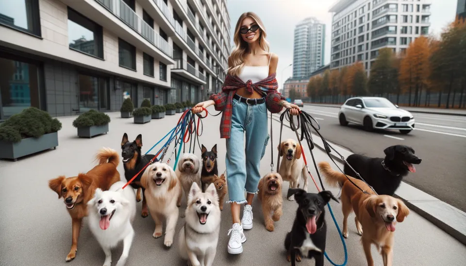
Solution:
[{"label": "cream long-haired dog with floppy tan ears, mouth open, walking", "polygon": [[179,215],[178,207],[181,205],[183,196],[181,183],[169,165],[156,162],[144,171],[141,185],[146,189],[147,206],[155,222],[152,236],[155,238],[162,236],[162,224],[166,219],[164,244],[170,247],[173,244],[173,235]]}]

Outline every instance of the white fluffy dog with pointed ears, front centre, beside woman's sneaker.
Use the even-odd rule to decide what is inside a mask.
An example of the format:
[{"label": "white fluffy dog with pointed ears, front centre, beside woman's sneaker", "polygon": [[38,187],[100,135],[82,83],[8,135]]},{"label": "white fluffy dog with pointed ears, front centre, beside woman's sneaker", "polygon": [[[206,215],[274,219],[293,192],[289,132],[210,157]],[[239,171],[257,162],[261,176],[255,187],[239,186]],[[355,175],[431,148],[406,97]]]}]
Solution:
[{"label": "white fluffy dog with pointed ears, front centre, beside woman's sneaker", "polygon": [[214,184],[205,193],[193,183],[188,194],[186,222],[180,231],[180,255],[192,266],[212,266],[220,232],[220,207]]}]

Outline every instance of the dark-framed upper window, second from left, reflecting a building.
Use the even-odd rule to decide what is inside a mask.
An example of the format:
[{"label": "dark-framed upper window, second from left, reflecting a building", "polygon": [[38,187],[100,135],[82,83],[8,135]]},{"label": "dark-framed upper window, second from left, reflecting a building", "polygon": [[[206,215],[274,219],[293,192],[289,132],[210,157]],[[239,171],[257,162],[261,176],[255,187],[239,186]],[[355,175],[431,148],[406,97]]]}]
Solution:
[{"label": "dark-framed upper window, second from left, reflecting a building", "polygon": [[73,50],[103,59],[102,27],[69,7],[68,44]]}]

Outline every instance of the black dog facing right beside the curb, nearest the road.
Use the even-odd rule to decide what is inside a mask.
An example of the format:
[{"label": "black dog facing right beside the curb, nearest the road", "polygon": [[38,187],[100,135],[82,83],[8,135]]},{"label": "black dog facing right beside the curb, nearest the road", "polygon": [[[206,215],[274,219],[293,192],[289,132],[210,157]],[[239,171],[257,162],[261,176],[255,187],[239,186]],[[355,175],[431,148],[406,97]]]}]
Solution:
[{"label": "black dog facing right beside the curb, nearest the road", "polygon": [[[409,172],[416,172],[413,164],[420,164],[421,159],[414,155],[413,148],[405,145],[390,146],[383,152],[385,158],[352,154],[346,160],[375,192],[379,195],[393,196],[403,177]],[[344,172],[360,179],[347,164]]]}]

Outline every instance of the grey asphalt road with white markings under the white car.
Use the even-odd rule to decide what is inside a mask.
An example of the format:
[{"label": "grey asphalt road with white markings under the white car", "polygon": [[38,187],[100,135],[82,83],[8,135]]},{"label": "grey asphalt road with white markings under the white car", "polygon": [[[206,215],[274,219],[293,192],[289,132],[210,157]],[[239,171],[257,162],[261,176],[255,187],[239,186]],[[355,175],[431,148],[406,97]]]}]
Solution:
[{"label": "grey asphalt road with white markings under the white car", "polygon": [[341,126],[338,108],[305,105],[303,110],[316,118],[326,139],[354,153],[384,157],[386,147],[413,147],[422,163],[404,181],[466,211],[466,117],[413,112],[416,130],[402,135],[395,130],[366,132],[359,125]]}]

